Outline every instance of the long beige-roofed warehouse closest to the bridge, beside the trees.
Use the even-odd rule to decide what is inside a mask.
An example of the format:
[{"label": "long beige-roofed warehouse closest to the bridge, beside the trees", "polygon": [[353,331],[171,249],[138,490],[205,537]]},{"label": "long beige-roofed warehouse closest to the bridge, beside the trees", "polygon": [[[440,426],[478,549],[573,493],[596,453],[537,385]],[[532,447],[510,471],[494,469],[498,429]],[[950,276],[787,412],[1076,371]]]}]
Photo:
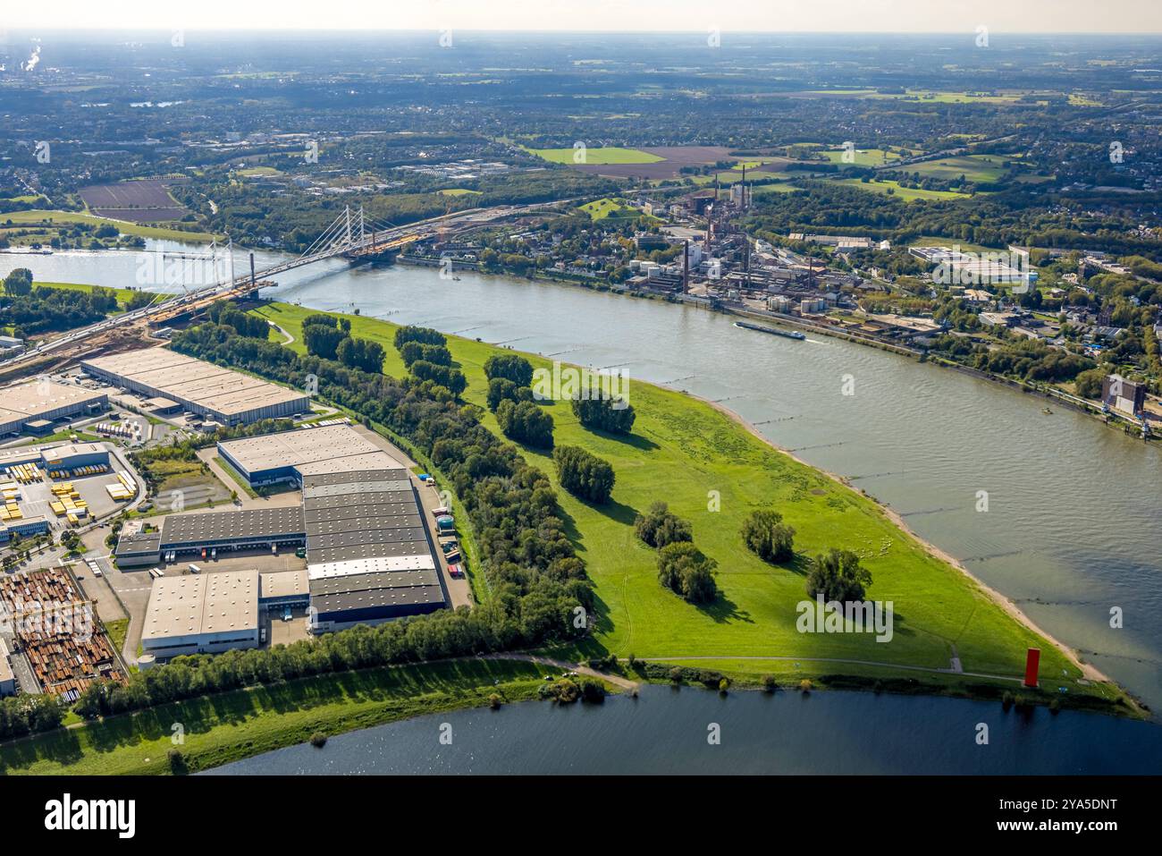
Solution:
[{"label": "long beige-roofed warehouse closest to the bridge, beside the trees", "polygon": [[83,359],[88,374],[151,400],[164,399],[224,426],[310,412],[310,399],[294,390],[224,369],[166,348]]}]

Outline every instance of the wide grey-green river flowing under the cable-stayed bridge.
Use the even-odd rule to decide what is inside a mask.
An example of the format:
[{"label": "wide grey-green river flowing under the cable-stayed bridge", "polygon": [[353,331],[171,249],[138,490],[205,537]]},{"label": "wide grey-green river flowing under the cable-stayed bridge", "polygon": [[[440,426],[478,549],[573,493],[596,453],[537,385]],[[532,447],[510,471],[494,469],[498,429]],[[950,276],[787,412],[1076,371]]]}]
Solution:
[{"label": "wide grey-green river flowing under the cable-stayed bridge", "polygon": [[[123,287],[138,283],[139,255],[0,256],[0,276],[28,266],[41,281]],[[275,258],[258,254],[258,264]],[[239,273],[244,264],[239,254]],[[452,281],[406,265],[350,269],[343,261],[279,283],[264,295],[332,312],[358,307],[720,401],[798,457],[851,477],[1162,709],[1157,443],[1063,407],[1045,414],[1039,397],[874,348],[813,334],[803,342],[765,336],[726,315],[661,301],[467,272]],[[988,492],[987,512],[976,509],[980,491]],[[1120,628],[1111,627],[1114,607]],[[892,704],[919,711],[932,702]],[[896,727],[910,733],[912,720]],[[1162,768],[1157,752],[1154,759]]]}]

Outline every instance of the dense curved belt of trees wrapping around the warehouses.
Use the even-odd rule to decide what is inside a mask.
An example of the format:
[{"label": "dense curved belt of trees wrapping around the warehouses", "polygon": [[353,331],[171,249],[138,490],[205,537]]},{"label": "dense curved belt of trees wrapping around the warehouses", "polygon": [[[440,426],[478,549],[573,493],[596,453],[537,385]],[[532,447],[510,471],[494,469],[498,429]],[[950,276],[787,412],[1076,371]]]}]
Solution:
[{"label": "dense curved belt of trees wrapping around the warehouses", "polygon": [[222,324],[180,333],[173,348],[293,386],[315,376],[321,397],[386,426],[429,456],[461,498],[493,597],[471,609],[359,626],[290,645],[177,657],[131,675],[124,686],[94,683],[77,701],[80,715],[325,672],[573,641],[587,633],[574,627],[573,616],[578,606],[593,611],[593,584],[565,534],[557,494],[543,472],[480,423],[479,408],[462,406],[430,380],[396,380],[301,356]]}]

